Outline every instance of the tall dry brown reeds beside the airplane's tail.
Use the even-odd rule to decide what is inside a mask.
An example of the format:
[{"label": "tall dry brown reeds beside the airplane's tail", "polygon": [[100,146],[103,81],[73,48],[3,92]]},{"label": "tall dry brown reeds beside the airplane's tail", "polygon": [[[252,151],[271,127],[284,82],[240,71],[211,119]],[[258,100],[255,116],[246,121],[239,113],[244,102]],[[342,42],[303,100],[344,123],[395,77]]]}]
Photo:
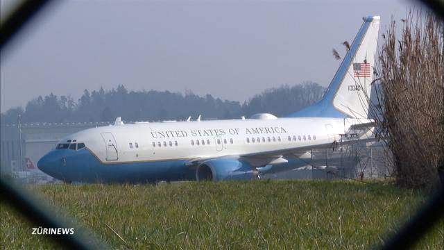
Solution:
[{"label": "tall dry brown reeds beside the airplane's tail", "polygon": [[432,14],[409,12],[383,35],[378,70],[382,83],[379,133],[393,153],[398,184],[434,183],[444,163],[443,22]]}]

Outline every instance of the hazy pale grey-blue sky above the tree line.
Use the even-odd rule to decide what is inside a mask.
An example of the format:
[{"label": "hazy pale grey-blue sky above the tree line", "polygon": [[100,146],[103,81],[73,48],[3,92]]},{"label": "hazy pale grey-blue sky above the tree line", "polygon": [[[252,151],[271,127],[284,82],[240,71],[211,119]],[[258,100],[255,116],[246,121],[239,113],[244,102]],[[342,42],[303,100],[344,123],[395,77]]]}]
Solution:
[{"label": "hazy pale grey-blue sky above the tree line", "polygon": [[[58,2],[58,1],[56,1]],[[2,19],[9,1],[1,1]],[[1,54],[1,112],[53,92],[128,90],[244,101],[266,88],[328,85],[361,17],[399,20],[411,1],[62,1]]]}]

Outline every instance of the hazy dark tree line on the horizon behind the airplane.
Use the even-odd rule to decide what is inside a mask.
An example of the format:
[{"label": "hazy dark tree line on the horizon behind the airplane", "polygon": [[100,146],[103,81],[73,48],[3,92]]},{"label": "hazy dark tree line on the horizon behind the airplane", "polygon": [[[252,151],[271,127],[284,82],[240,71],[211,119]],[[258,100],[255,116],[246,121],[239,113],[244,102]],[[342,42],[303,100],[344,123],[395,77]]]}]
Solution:
[{"label": "hazy dark tree line on the horizon behind the airplane", "polygon": [[49,94],[28,101],[25,108],[10,108],[1,113],[2,124],[22,122],[112,122],[118,116],[126,121],[158,121],[196,118],[230,119],[255,113],[272,113],[278,117],[296,112],[321,99],[325,88],[317,83],[282,85],[256,94],[248,101],[222,100],[206,94],[181,94],[169,91],[128,91],[123,85],[105,91],[84,90],[75,101],[70,96]]}]

